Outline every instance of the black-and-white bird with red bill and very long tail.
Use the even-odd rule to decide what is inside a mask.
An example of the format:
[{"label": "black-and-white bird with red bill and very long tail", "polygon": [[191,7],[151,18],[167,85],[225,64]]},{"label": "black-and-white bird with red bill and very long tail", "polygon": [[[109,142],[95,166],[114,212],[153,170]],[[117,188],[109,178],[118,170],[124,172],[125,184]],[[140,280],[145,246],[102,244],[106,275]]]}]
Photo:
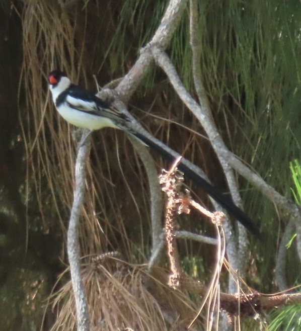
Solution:
[{"label": "black-and-white bird with red bill and very long tail", "polygon": [[[98,98],[94,93],[71,83],[67,75],[55,69],[48,75],[49,89],[52,100],[58,113],[74,126],[90,130],[99,130],[111,127],[126,131],[136,137],[143,144],[158,151],[167,161],[174,162],[177,152],[147,133],[135,130],[131,125],[132,119],[125,113],[112,106],[112,102]],[[211,196],[221,207],[235,217],[251,233],[260,237],[258,227],[251,218],[228,196],[223,195],[211,183],[200,175],[199,168],[185,158],[178,164],[178,169],[197,186]],[[198,171],[198,170],[199,171]]]}]

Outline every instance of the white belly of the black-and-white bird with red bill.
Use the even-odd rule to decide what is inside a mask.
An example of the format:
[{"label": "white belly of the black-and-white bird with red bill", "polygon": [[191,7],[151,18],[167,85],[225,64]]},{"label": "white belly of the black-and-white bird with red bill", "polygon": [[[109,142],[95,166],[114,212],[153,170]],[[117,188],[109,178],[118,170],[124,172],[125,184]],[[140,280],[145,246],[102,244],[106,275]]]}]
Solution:
[{"label": "white belly of the black-and-white bird with red bill", "polygon": [[117,128],[112,120],[106,117],[81,112],[76,109],[72,109],[64,104],[60,105],[57,109],[59,114],[69,123],[90,130],[99,130],[104,127]]}]

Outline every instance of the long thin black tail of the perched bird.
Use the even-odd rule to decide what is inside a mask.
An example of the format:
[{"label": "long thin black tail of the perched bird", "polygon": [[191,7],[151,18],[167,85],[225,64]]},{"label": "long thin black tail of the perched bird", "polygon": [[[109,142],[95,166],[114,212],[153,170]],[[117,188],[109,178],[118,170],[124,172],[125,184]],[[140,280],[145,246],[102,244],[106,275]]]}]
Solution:
[{"label": "long thin black tail of the perched bird", "polygon": [[[157,139],[154,137],[150,138],[137,132],[131,132],[131,134],[133,134],[150,148],[158,151],[168,161],[174,162],[175,159],[180,156],[180,154],[164,145],[161,141],[157,141]],[[250,217],[246,215],[246,213],[244,213],[240,208],[238,208],[232,199],[220,193],[213,185],[206,181],[202,177],[201,171],[198,167],[196,167],[196,165],[187,159],[182,158],[178,165],[178,169],[182,171],[189,179],[191,179],[197,186],[209,194],[221,207],[227,210],[233,217],[238,219],[250,232],[260,237],[260,231],[254,225]]]}]

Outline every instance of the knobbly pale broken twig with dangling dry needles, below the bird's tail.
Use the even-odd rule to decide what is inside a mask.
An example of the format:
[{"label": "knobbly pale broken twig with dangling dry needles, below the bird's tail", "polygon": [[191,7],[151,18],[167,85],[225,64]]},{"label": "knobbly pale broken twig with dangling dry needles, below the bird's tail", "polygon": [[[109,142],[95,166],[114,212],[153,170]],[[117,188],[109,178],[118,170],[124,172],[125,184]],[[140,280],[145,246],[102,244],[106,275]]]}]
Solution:
[{"label": "knobbly pale broken twig with dangling dry needles, below the bird's tail", "polygon": [[217,257],[215,271],[212,275],[208,291],[203,298],[201,308],[197,316],[192,320],[189,327],[195,322],[196,318],[200,314],[201,310],[207,303],[207,330],[211,330],[213,323],[218,325],[219,318],[219,303],[220,303],[220,286],[219,278],[221,267],[223,265],[225,254],[225,237],[222,229],[222,223],[225,221],[226,216],[222,212],[210,212],[203,208],[200,204],[190,198],[189,193],[181,193],[181,186],[184,180],[182,174],[178,172],[177,166],[181,158],[178,158],[170,171],[163,171],[160,175],[160,184],[162,185],[162,191],[166,193],[168,199],[166,204],[165,215],[165,232],[167,242],[167,254],[170,261],[171,275],[169,277],[169,285],[172,288],[177,288],[181,285],[183,273],[180,268],[179,257],[176,249],[176,236],[174,226],[174,216],[176,214],[190,212],[190,207],[196,209],[199,213],[209,217],[211,222],[216,228],[217,233]]}]

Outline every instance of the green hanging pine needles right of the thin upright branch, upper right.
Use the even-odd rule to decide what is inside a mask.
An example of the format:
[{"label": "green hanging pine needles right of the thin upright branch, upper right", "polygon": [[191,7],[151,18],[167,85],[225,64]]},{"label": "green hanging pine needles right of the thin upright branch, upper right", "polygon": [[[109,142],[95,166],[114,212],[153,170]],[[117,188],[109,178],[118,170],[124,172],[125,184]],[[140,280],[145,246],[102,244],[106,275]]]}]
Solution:
[{"label": "green hanging pine needles right of the thin upright branch, upper right", "polygon": [[[301,152],[300,3],[207,1],[200,15],[202,75],[214,120],[230,148],[287,195],[285,164]],[[252,252],[262,257],[261,290],[270,291],[281,211],[240,180],[247,213],[269,233]]]}]

